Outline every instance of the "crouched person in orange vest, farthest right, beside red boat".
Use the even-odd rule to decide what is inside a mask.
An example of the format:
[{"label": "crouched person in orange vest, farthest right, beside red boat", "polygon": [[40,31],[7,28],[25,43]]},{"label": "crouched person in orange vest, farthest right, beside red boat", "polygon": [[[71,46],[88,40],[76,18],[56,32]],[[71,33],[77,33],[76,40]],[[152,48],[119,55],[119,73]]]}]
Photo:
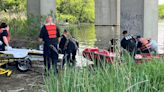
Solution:
[{"label": "crouched person in orange vest, farthest right, beside red boat", "polygon": [[142,38],[140,36],[137,36],[137,48],[141,51],[141,53],[150,53],[151,51],[151,45],[149,43],[149,40],[146,38]]}]

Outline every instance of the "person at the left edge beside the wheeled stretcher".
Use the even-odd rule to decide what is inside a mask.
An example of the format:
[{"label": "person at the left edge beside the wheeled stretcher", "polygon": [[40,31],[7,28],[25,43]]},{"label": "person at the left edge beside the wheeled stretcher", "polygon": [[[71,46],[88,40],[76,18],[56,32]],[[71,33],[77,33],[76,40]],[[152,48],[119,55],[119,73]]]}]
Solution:
[{"label": "person at the left edge beside the wheeled stretcher", "polygon": [[10,41],[10,32],[9,32],[9,26],[6,23],[1,23],[0,25],[0,50],[10,50],[12,49],[11,46],[9,46]]}]

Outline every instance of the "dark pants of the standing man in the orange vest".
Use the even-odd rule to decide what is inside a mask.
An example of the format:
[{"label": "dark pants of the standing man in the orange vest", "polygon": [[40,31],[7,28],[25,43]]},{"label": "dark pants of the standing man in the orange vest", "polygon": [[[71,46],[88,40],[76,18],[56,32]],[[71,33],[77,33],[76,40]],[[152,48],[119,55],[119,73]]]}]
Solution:
[{"label": "dark pants of the standing man in the orange vest", "polygon": [[[45,45],[46,46],[46,45]],[[57,44],[53,45],[56,49],[54,51],[50,46],[44,46],[44,65],[46,70],[54,69],[54,72],[58,73],[57,62],[58,62],[58,52],[57,52]]]}]

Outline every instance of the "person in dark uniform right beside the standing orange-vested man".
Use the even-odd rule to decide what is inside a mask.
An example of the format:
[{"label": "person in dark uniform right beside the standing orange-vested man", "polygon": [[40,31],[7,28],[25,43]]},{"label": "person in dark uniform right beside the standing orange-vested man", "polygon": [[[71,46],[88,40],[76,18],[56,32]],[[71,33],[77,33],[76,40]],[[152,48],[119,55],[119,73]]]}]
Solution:
[{"label": "person in dark uniform right beside the standing orange-vested man", "polygon": [[75,64],[76,52],[78,49],[78,42],[72,39],[68,39],[68,30],[64,30],[63,35],[61,36],[61,41],[59,43],[59,48],[63,56],[63,67],[66,62]]}]

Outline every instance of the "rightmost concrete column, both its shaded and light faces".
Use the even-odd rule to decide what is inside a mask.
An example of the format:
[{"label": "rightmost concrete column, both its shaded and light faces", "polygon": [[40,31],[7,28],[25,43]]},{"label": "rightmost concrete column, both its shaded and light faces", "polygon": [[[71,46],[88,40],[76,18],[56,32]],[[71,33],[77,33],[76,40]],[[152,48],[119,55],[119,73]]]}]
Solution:
[{"label": "rightmost concrete column, both its shaded and light faces", "polygon": [[158,0],[121,0],[121,32],[158,39]]}]

